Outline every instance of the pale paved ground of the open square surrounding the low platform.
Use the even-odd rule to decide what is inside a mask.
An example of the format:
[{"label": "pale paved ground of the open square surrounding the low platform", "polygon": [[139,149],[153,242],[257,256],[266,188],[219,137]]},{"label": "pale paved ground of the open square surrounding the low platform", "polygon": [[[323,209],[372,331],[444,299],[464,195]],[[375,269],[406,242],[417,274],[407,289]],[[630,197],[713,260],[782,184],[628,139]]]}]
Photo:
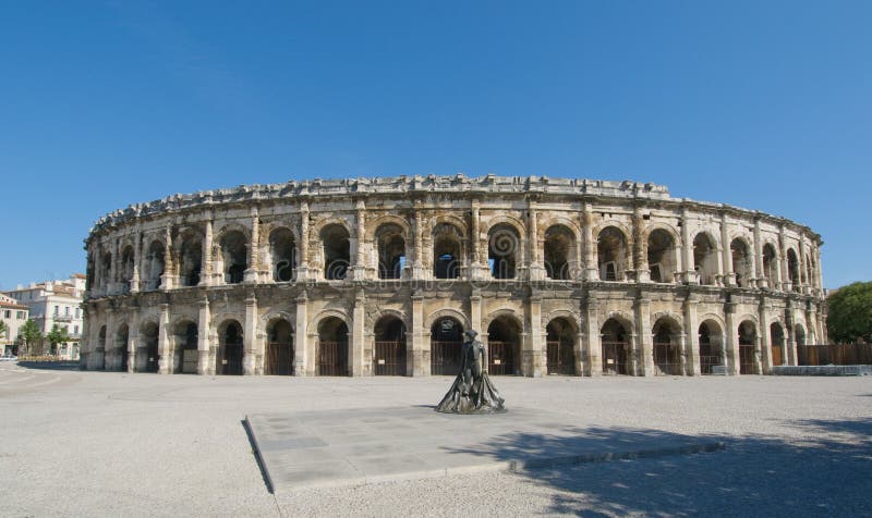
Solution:
[{"label": "pale paved ground of the open square surrounding the low platform", "polygon": [[[494,381],[510,408],[559,415],[604,447],[693,437],[726,448],[274,495],[246,415],[433,405],[451,379],[0,365],[0,516],[872,516],[872,377]],[[491,453],[531,439],[561,441]]]}]

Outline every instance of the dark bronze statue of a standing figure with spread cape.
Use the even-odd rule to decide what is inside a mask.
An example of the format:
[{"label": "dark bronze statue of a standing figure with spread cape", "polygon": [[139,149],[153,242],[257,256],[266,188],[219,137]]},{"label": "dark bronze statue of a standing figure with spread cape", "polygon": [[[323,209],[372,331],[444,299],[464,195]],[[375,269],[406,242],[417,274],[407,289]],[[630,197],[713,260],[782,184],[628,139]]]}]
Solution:
[{"label": "dark bronze statue of a standing figure with spread cape", "polygon": [[469,330],[464,333],[460,372],[451,388],[436,406],[436,411],[446,414],[492,414],[504,412],[505,400],[491,383],[483,366],[487,361],[484,346],[475,340],[479,334]]}]

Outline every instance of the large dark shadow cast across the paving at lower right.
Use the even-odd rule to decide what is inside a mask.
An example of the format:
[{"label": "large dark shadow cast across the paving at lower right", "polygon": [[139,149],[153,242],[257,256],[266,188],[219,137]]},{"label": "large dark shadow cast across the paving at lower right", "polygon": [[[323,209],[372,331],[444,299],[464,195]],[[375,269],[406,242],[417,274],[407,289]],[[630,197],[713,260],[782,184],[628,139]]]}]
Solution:
[{"label": "large dark shadow cast across the paving at lower right", "polygon": [[[872,422],[786,422],[796,440],[686,436],[655,430],[578,429],[604,451],[621,444],[723,441],[716,453],[537,468],[518,476],[554,492],[549,513],[579,516],[872,516]],[[509,434],[479,452],[494,459],[572,451],[579,437]]]}]

